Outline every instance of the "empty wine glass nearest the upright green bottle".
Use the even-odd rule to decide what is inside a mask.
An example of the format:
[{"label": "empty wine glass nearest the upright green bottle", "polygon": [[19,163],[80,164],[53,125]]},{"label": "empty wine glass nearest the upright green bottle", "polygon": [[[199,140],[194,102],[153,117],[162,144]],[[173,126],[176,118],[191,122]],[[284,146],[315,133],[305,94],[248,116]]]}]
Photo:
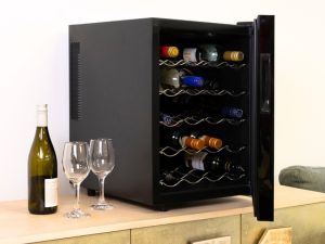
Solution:
[{"label": "empty wine glass nearest the upright green bottle", "polygon": [[63,171],[76,188],[76,203],[74,205],[74,210],[64,215],[67,218],[90,216],[89,214],[83,213],[79,207],[80,184],[90,171],[88,147],[87,142],[66,142],[64,145],[62,157]]}]

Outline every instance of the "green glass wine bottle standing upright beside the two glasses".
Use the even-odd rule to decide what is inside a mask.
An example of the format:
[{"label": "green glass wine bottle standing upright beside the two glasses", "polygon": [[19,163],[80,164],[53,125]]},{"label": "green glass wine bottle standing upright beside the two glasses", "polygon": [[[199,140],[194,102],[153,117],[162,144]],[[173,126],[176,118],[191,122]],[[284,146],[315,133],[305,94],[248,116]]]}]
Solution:
[{"label": "green glass wine bottle standing upright beside the two glasses", "polygon": [[57,210],[57,162],[48,130],[48,105],[37,106],[37,128],[28,156],[28,210],[36,215]]}]

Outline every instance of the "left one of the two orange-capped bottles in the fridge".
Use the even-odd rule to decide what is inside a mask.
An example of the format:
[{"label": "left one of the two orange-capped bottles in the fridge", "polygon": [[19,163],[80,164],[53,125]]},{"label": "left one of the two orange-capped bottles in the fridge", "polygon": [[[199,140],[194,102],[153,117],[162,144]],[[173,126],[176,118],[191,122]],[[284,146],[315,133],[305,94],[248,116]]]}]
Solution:
[{"label": "left one of the two orange-capped bottles in the fridge", "polygon": [[191,138],[190,134],[185,134],[182,130],[164,131],[161,136],[165,144],[171,145],[174,149],[203,150],[205,147],[204,141]]}]

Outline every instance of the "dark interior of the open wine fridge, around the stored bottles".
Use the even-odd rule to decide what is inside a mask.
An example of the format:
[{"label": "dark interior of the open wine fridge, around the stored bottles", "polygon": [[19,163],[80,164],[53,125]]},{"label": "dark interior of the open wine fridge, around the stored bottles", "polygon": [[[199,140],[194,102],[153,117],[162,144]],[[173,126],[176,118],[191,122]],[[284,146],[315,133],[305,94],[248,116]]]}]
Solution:
[{"label": "dark interior of the open wine fridge, around the stored bottles", "polygon": [[[159,192],[174,201],[174,195],[186,192],[223,192],[248,194],[249,167],[249,36],[222,30],[176,30],[161,28],[158,47],[178,47],[180,50],[205,44],[218,44],[222,50],[239,50],[240,62],[158,60],[159,66]],[[222,53],[219,53],[221,55]],[[199,88],[181,86],[169,88],[164,84],[164,73],[170,69],[203,77]],[[222,113],[225,107],[240,110],[243,115],[233,117]],[[193,150],[170,144],[173,133],[193,137],[193,133],[218,138],[222,145]],[[217,158],[218,171],[202,170],[186,165],[186,158],[200,160]],[[197,162],[198,163],[198,162]],[[229,166],[226,164],[230,164]],[[235,170],[226,170],[231,167]]]}]

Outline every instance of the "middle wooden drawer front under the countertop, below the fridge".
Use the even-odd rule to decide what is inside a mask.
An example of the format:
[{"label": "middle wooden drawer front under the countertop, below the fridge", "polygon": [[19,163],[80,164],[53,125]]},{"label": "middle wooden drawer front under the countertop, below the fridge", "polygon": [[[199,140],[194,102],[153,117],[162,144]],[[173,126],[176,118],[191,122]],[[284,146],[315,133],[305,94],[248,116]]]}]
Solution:
[{"label": "middle wooden drawer front under the countertop, below the fridge", "polygon": [[188,244],[213,237],[231,236],[240,244],[240,216],[172,223],[131,230],[132,244]]}]

